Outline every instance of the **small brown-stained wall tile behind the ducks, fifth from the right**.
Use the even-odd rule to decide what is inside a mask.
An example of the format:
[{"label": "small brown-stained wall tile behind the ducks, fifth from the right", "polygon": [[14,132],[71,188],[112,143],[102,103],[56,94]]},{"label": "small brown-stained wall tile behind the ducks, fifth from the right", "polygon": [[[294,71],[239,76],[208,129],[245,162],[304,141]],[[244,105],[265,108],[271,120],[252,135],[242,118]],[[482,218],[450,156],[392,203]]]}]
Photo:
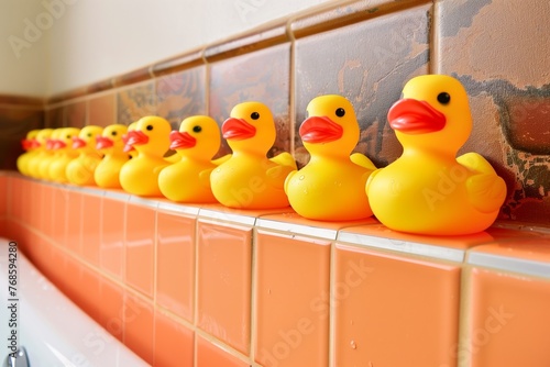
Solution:
[{"label": "small brown-stained wall tile behind the ducks, fifth from the right", "polygon": [[132,122],[156,114],[154,81],[145,81],[120,90],[117,94],[117,122]]}]

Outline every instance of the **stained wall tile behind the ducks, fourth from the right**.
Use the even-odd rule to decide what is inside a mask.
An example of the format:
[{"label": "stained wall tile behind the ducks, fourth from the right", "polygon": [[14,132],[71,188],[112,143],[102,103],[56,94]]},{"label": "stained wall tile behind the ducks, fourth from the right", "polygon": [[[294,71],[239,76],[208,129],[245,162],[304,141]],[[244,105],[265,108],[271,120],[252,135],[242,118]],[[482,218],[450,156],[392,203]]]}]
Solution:
[{"label": "stained wall tile behind the ducks, fourth from the right", "polygon": [[157,114],[168,120],[173,130],[185,118],[206,114],[206,66],[169,74],[156,79]]}]

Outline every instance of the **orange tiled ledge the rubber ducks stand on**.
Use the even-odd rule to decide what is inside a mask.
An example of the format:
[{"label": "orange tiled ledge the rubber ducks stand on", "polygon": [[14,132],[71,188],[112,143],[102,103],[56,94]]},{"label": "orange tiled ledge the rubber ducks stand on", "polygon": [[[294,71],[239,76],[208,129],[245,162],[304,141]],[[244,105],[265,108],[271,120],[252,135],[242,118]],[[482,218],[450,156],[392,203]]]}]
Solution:
[{"label": "orange tiled ledge the rubber ducks stand on", "polygon": [[548,366],[550,234],[180,205],[0,175],[0,229],[155,366]]}]

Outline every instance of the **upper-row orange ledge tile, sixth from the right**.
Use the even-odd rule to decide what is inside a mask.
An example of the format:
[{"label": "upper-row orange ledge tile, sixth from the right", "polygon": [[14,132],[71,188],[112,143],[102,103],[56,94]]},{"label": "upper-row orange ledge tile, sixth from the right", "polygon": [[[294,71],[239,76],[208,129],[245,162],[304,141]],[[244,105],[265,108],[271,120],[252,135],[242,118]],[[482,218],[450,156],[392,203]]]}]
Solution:
[{"label": "upper-row orange ledge tile, sixth from the right", "polygon": [[148,297],[153,297],[155,219],[153,208],[127,204],[125,281]]}]

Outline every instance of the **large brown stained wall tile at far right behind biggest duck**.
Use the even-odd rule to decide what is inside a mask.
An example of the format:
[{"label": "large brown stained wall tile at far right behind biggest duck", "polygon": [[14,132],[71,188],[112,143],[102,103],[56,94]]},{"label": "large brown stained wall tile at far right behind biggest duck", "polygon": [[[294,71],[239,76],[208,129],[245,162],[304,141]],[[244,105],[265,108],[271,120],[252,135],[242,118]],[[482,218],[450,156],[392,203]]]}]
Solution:
[{"label": "large brown stained wall tile at far right behind biggest duck", "polygon": [[462,81],[474,121],[462,153],[482,154],[506,180],[501,219],[548,225],[550,64],[540,45],[550,41],[544,31],[550,4],[441,1],[438,7],[433,63],[438,73]]}]

